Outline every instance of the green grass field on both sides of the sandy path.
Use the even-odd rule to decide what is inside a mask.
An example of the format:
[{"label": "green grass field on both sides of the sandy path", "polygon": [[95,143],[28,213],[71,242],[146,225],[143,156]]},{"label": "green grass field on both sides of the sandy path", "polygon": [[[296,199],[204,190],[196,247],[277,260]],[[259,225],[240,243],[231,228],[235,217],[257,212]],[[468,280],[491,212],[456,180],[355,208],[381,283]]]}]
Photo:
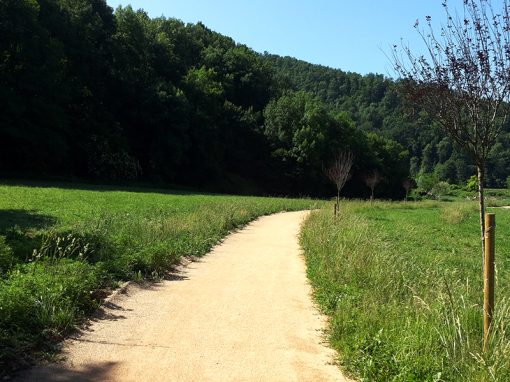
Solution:
[{"label": "green grass field on both sides of the sandy path", "polygon": [[[346,201],[312,214],[301,243],[343,366],[366,381],[510,380],[510,210],[497,214],[497,317],[482,348],[477,203]],[[490,190],[488,205],[510,204]],[[229,231],[306,199],[0,184],[0,370],[52,354],[106,291],[164,277]],[[2,375],[2,372],[0,372]]]}]

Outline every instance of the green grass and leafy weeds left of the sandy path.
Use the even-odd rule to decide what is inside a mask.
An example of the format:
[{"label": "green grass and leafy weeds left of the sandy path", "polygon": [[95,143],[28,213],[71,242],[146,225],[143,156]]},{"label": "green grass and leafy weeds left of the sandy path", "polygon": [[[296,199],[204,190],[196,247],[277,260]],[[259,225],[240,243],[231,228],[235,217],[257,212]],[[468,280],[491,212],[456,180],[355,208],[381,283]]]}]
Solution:
[{"label": "green grass and leafy weeds left of the sandy path", "polygon": [[0,375],[50,351],[121,280],[158,278],[229,231],[311,200],[0,185]]}]

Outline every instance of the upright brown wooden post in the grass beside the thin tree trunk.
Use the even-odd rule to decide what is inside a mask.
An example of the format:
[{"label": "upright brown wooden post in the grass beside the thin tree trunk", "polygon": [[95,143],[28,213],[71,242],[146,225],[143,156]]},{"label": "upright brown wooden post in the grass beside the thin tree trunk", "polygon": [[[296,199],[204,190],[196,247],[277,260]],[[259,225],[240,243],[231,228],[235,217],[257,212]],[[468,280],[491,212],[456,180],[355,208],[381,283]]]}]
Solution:
[{"label": "upright brown wooden post in the grass beside the thin tree trunk", "polygon": [[494,312],[494,249],[496,215],[485,214],[485,264],[483,288],[483,349],[487,351],[489,330]]}]

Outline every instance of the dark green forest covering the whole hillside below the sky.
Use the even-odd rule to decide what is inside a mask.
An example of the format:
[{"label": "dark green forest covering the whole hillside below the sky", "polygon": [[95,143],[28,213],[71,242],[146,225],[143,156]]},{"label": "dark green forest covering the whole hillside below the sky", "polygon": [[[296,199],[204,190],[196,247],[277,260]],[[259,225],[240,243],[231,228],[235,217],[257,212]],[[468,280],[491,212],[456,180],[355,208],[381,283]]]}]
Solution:
[{"label": "dark green forest covering the whole hillside below the sky", "polygon": [[[469,158],[399,83],[257,53],[202,23],[104,0],[0,3],[0,176],[137,182],[238,194],[328,196],[335,156],[354,154],[345,195],[401,198],[465,185]],[[487,186],[506,185],[510,127]]]}]

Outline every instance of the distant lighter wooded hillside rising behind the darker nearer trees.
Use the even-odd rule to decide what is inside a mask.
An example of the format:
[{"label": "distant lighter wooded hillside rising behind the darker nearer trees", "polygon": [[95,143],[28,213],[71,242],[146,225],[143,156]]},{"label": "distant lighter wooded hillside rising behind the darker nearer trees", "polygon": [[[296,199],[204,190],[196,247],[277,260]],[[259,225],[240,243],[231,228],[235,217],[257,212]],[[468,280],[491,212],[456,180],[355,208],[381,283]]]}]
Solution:
[{"label": "distant lighter wooded hillside rising behind the darker nearer trees", "polygon": [[[277,78],[293,89],[314,94],[332,110],[343,112],[357,127],[400,143],[409,151],[411,176],[465,185],[475,175],[470,158],[427,114],[408,105],[398,83],[382,75],[361,76],[290,57],[264,55]],[[487,186],[506,187],[510,175],[510,124],[487,161]],[[432,182],[432,183],[433,183]],[[431,183],[431,182],[429,182]]]}]

